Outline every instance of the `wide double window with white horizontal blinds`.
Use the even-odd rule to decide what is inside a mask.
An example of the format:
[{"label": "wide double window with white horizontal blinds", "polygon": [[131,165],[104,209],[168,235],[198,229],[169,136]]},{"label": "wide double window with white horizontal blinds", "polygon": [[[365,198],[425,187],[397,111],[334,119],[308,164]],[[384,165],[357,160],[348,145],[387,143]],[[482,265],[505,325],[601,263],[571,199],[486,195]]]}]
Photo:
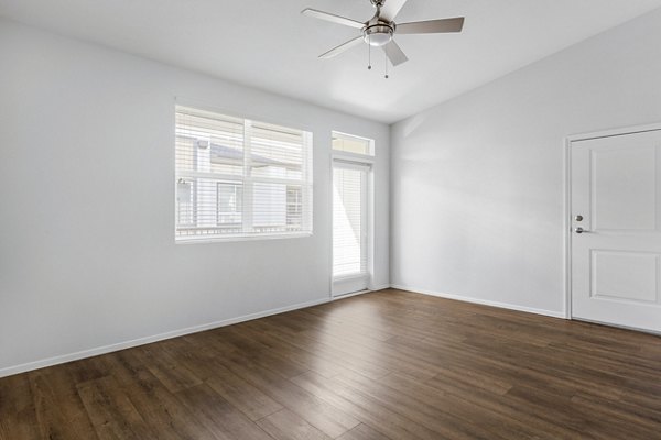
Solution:
[{"label": "wide double window with white horizontal blinds", "polygon": [[177,241],[312,233],[312,133],[176,106]]}]

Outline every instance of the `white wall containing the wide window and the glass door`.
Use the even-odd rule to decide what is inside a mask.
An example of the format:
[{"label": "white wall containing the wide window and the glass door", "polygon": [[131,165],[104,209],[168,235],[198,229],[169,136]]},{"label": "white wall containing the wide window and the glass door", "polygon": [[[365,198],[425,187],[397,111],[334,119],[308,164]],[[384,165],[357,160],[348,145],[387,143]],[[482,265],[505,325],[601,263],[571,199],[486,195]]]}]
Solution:
[{"label": "white wall containing the wide window and the glass door", "polygon": [[[389,283],[387,125],[2,20],[0,59],[0,376],[328,299],[332,130],[376,140]],[[174,243],[175,96],[314,133],[312,238]]]}]

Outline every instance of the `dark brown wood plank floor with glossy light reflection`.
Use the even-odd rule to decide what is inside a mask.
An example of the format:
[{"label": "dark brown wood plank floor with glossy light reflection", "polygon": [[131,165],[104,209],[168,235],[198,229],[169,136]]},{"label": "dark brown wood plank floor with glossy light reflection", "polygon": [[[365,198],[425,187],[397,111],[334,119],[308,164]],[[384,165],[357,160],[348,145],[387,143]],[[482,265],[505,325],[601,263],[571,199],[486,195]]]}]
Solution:
[{"label": "dark brown wood plank floor with glossy light reflection", "polygon": [[0,439],[661,439],[661,338],[383,290],[0,380]]}]

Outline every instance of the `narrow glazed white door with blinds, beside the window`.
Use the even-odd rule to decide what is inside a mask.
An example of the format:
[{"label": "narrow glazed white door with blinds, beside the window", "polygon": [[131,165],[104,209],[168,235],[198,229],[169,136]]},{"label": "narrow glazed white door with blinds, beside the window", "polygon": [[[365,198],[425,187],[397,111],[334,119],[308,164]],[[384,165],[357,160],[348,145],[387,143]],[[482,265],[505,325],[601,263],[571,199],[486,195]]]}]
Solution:
[{"label": "narrow glazed white door with blinds, beside the window", "polygon": [[368,272],[369,167],[333,164],[333,295],[365,290]]}]

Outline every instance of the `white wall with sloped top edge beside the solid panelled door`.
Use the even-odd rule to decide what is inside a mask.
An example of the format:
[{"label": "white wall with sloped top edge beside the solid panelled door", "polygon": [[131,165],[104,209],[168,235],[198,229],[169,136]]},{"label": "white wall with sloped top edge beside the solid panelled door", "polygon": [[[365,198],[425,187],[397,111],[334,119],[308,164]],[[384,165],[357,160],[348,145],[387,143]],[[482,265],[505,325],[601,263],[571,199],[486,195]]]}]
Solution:
[{"label": "white wall with sloped top edge beside the solid panelled door", "polygon": [[661,121],[659,42],[654,11],[394,124],[392,283],[561,315],[564,139]]}]

